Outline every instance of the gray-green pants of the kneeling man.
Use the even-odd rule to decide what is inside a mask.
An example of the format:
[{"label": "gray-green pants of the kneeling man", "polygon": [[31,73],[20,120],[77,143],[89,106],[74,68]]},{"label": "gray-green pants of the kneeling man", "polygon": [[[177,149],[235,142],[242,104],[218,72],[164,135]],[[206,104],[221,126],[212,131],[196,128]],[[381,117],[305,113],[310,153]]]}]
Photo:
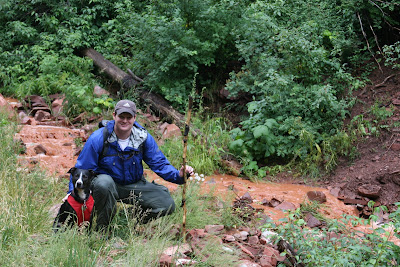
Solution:
[{"label": "gray-green pants of the kneeling man", "polygon": [[142,180],[128,185],[119,185],[111,176],[100,174],[92,181],[97,229],[108,227],[116,212],[117,201],[139,205],[146,212],[144,221],[171,214],[175,202],[168,188],[154,182]]}]

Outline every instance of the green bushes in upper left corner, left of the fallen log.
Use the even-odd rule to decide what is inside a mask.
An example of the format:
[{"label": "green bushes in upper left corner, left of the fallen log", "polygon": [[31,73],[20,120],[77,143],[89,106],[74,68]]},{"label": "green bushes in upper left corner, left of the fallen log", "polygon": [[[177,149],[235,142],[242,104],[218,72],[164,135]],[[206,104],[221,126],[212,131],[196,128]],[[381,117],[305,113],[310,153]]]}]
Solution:
[{"label": "green bushes in upper left corner, left of the fallen log", "polygon": [[74,52],[101,40],[101,25],[112,7],[108,1],[2,3],[2,92],[18,98],[64,93],[67,116],[96,111],[100,106],[93,101],[93,63]]}]

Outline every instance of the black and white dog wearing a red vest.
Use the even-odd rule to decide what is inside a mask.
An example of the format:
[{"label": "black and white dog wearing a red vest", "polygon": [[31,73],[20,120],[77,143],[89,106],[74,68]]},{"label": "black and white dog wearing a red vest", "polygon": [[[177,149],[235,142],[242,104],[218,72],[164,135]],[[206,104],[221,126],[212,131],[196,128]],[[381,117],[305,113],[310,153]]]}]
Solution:
[{"label": "black and white dog wearing a red vest", "polygon": [[67,200],[61,205],[57,217],[53,223],[53,229],[57,232],[62,226],[71,227],[76,224],[82,226],[88,224],[90,230],[92,224],[92,211],[94,200],[90,194],[90,184],[96,176],[93,170],[71,168],[74,189]]}]

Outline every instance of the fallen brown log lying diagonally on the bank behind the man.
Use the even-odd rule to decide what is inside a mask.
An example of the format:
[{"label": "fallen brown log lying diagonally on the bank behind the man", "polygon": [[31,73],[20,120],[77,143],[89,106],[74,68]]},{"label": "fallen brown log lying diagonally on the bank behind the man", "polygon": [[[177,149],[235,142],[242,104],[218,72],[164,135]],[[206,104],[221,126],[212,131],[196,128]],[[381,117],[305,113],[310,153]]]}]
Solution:
[{"label": "fallen brown log lying diagonally on the bank behind the man", "polygon": [[[128,70],[130,74],[121,70],[93,48],[84,49],[83,55],[91,58],[94,65],[100,69],[100,72],[105,73],[110,79],[117,81],[123,90],[131,89],[143,81],[133,74],[131,70]],[[175,123],[179,128],[184,128],[185,116],[176,111],[162,96],[143,89],[140,89],[138,92],[139,98],[142,99],[144,103],[148,104],[153,112],[157,113],[168,122]],[[195,137],[198,132],[198,130],[191,131]]]}]

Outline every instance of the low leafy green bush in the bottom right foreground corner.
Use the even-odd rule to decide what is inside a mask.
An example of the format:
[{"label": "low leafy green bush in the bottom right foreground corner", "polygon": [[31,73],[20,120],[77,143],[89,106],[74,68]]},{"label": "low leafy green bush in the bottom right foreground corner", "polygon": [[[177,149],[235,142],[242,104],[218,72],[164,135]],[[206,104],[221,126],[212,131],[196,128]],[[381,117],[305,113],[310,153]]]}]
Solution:
[{"label": "low leafy green bush in the bottom right foreground corner", "polygon": [[[392,218],[395,217],[398,213]],[[371,219],[345,216],[329,221],[326,228],[310,229],[301,209],[297,209],[279,226],[271,223],[266,228],[279,234],[276,242],[284,239],[291,244],[297,253],[296,260],[305,266],[397,266],[400,248],[389,240],[392,233],[385,229],[386,226],[371,228],[371,222]],[[351,225],[372,231],[363,233],[349,228]]]}]

